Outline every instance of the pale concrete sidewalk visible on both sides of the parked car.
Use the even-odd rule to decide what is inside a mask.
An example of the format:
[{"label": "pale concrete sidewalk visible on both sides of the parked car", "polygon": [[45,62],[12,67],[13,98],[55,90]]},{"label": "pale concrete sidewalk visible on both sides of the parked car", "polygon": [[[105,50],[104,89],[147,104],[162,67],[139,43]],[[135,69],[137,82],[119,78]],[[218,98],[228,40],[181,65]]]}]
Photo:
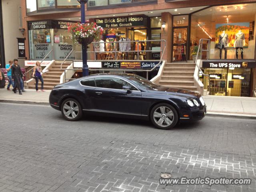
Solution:
[{"label": "pale concrete sidewalk visible on both sides of the parked car", "polygon": [[[19,95],[4,88],[0,89],[0,102],[49,105],[49,94],[50,90],[45,92],[26,90]],[[207,115],[256,118],[256,98],[204,96],[204,101],[207,106]]]}]

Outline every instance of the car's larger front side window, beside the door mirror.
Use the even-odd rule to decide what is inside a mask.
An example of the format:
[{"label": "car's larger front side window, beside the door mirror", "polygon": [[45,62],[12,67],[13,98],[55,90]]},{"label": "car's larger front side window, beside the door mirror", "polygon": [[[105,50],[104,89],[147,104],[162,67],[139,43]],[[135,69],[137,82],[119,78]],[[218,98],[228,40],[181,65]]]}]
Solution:
[{"label": "car's larger front side window, beside the door mirror", "polygon": [[123,86],[129,86],[132,90],[137,90],[134,86],[115,77],[96,77],[95,78],[96,86],[99,88],[108,88],[108,89],[120,89],[122,90]]}]

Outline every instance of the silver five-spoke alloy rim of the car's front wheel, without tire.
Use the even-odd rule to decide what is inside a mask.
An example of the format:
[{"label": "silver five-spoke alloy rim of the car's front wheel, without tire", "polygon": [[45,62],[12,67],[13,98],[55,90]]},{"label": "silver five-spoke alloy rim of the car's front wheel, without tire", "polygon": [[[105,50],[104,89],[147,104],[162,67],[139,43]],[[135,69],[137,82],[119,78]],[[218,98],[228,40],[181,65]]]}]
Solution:
[{"label": "silver five-spoke alloy rim of the car's front wheel, without tire", "polygon": [[160,106],[156,108],[153,117],[156,124],[161,127],[170,126],[174,120],[174,114],[172,110],[166,106]]}]

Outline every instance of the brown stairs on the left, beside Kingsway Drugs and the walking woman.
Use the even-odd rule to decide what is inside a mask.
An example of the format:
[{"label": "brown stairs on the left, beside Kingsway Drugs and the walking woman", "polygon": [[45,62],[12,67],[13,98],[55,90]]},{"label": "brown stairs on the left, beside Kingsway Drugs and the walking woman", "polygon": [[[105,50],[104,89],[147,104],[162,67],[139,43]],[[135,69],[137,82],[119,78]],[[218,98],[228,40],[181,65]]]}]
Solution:
[{"label": "brown stairs on the left, beside Kingsway Drugs and the walking woman", "polygon": [[[43,74],[45,90],[52,90],[54,86],[60,84],[60,76],[64,72],[63,70],[60,70],[61,63],[62,61],[55,61],[55,64],[53,64],[51,68],[48,69],[48,72]],[[62,69],[67,68],[70,64],[71,62],[64,62],[64,64],[62,64]],[[36,82],[34,82],[32,85],[28,85],[28,88],[36,89]],[[40,80],[38,82],[38,89],[41,89]]]}]

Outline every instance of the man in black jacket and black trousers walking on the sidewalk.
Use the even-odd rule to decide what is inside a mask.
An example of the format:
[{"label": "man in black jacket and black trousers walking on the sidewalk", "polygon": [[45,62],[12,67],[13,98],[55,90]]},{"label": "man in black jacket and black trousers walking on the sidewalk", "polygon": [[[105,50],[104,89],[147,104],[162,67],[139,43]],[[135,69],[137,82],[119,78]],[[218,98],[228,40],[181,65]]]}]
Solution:
[{"label": "man in black jacket and black trousers walking on the sidewalk", "polygon": [[16,93],[18,88],[19,94],[22,95],[20,90],[20,80],[22,80],[23,74],[21,72],[20,66],[18,65],[18,59],[14,59],[13,61],[14,65],[12,65],[12,79],[14,79],[14,89],[12,91]]}]

